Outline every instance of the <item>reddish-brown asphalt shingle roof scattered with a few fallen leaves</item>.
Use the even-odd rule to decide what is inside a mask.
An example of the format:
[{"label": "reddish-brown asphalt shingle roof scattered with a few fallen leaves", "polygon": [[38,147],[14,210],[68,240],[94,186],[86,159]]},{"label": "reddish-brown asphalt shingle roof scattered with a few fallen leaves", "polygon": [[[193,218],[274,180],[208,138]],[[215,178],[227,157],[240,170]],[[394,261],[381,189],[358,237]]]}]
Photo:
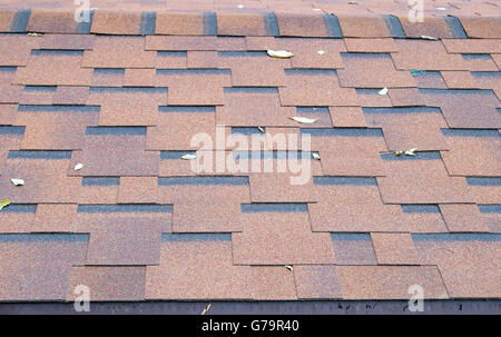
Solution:
[{"label": "reddish-brown asphalt shingle roof scattered with a few fallen leaves", "polygon": [[495,3],[14,2],[0,301],[501,297]]}]

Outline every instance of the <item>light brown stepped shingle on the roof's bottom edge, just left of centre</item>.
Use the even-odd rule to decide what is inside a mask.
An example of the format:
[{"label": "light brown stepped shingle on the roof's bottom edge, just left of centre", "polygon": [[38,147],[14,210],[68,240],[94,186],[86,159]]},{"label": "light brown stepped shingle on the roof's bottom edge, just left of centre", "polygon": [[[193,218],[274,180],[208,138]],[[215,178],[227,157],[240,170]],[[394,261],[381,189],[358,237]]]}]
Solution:
[{"label": "light brown stepped shingle on the roof's bottom edge, just left of centre", "polygon": [[196,237],[165,240],[159,265],[146,267],[145,297],[252,299],[253,284],[250,267],[232,262],[230,241],[198,240]]}]

